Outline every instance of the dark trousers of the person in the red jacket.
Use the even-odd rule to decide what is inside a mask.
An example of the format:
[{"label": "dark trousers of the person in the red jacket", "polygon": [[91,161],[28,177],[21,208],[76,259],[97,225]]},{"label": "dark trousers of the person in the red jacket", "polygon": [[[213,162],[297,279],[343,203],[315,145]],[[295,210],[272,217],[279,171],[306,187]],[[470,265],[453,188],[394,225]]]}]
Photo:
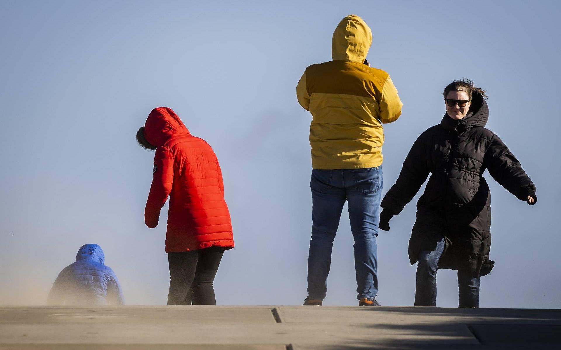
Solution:
[{"label": "dark trousers of the person in the red jacket", "polygon": [[168,253],[168,305],[216,305],[213,282],[222,247]]}]

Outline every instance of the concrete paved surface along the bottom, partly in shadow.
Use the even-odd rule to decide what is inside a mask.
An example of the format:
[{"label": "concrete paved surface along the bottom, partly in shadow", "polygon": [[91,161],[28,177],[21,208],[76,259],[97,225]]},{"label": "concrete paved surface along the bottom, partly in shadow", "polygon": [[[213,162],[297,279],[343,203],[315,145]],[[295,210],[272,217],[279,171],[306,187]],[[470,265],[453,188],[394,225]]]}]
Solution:
[{"label": "concrete paved surface along the bottom, partly in shadow", "polygon": [[561,310],[413,306],[0,307],[0,350],[77,348],[561,349]]}]

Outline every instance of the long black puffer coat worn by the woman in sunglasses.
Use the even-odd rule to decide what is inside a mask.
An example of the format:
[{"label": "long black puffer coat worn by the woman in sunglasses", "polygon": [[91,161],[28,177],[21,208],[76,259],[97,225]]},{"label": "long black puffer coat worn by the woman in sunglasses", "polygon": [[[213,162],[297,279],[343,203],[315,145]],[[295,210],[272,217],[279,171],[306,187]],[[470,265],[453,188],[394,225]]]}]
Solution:
[{"label": "long black puffer coat worn by the woman in sunglasses", "polygon": [[470,112],[457,121],[444,114],[413,144],[381,207],[397,215],[417,194],[431,173],[425,193],[417,202],[417,221],[409,241],[411,265],[419,252],[435,250],[445,237],[446,250],[439,268],[471,270],[486,275],[493,268],[491,246],[491,194],[483,173],[491,176],[513,195],[534,184],[507,146],[484,126],[489,117],[485,99],[474,93]]}]

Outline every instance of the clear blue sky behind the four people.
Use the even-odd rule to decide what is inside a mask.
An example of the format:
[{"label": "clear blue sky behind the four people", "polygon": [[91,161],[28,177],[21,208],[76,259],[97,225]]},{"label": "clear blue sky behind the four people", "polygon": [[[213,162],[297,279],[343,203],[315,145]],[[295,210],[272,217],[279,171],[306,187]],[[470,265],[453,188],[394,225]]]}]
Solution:
[{"label": "clear blue sky behind the four people", "polygon": [[[306,66],[331,59],[346,15],[373,31],[371,66],[390,73],[403,114],[385,126],[384,192],[413,141],[464,77],[488,91],[487,127],[537,187],[517,200],[487,174],[491,260],[481,307],[561,307],[557,1],[0,0],[0,304],[41,304],[84,243],[98,243],[128,304],[165,304],[167,206],[144,225],[154,153],[135,133],[171,107],[217,153],[236,247],[220,305],[297,305],[311,230],[311,116],[296,100]],[[422,190],[419,192],[419,195]],[[407,242],[419,195],[378,238],[382,305],[412,305]],[[343,211],[325,305],[356,305]],[[455,271],[438,306],[457,306]]]}]

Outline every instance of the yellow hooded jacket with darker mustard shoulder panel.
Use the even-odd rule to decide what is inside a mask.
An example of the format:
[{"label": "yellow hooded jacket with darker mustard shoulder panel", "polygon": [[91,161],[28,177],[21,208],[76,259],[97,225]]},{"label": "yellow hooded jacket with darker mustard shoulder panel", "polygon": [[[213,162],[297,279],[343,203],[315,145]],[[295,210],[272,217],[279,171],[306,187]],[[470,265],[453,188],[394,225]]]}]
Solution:
[{"label": "yellow hooded jacket with darker mustard shoulder panel", "polygon": [[312,114],[312,168],[378,167],[383,161],[382,123],[396,121],[402,103],[388,73],[363,62],[372,32],[355,15],[345,17],[333,33],[333,61],[306,68],[298,102]]}]

